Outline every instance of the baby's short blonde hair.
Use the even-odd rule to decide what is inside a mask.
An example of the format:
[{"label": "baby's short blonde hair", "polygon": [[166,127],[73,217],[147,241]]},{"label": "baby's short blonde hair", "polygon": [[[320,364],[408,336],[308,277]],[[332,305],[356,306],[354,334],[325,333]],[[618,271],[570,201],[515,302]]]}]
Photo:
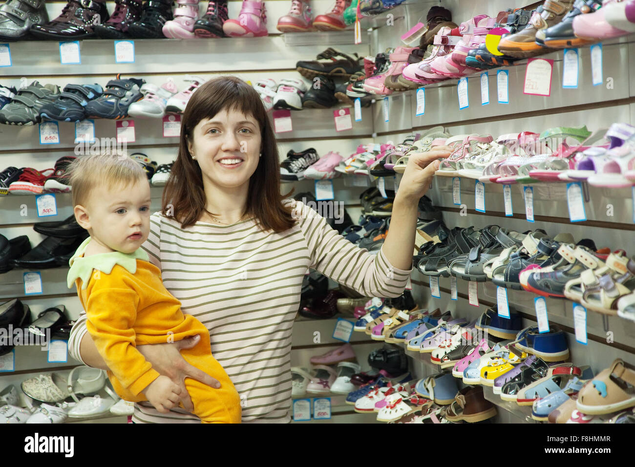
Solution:
[{"label": "baby's short blonde hair", "polygon": [[121,187],[147,181],[142,166],[128,156],[98,154],[79,156],[69,166],[73,206],[83,205],[98,186]]}]

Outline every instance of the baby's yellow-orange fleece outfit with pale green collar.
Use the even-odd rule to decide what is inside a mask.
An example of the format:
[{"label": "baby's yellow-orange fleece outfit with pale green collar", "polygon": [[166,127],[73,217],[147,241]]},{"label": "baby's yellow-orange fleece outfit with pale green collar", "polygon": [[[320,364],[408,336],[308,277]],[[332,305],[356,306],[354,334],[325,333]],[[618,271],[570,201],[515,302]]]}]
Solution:
[{"label": "baby's yellow-orange fleece outfit with pale green collar", "polygon": [[159,377],[137,346],[177,342],[199,334],[199,343],[180,353],[188,363],[215,377],[221,387],[210,388],[186,378],[192,413],[203,423],[241,423],[240,396],[211,355],[210,332],[201,321],[181,311],[180,301],[166,290],[161,271],[148,261],[144,250],[84,258],[89,241],[90,237],[70,259],[67,283],[69,288],[73,282],[77,286],[88,317],[86,327],[110,369],[108,377],[116,393],[131,402],[146,401],[142,391]]}]

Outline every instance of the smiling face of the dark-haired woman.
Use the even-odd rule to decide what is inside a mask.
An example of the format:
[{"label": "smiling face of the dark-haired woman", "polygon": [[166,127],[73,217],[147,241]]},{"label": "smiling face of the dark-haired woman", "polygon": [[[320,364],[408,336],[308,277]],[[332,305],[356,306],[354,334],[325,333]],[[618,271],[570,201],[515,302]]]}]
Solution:
[{"label": "smiling face of the dark-haired woman", "polygon": [[257,120],[231,109],[199,121],[188,148],[201,167],[203,179],[218,187],[237,188],[248,184],[256,171],[260,142]]}]

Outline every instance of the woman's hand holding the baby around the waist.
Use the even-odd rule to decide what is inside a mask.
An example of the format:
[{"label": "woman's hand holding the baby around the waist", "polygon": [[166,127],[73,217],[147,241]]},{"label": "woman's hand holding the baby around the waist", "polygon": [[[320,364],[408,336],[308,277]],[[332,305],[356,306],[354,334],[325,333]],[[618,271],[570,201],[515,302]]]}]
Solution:
[{"label": "woman's hand holding the baby around the waist", "polygon": [[199,342],[200,336],[194,335],[193,337],[187,337],[178,342],[166,342],[164,344],[148,344],[145,346],[138,346],[137,350],[145,356],[145,359],[152,363],[152,368],[157,370],[160,374],[170,378],[180,388],[180,396],[174,402],[163,405],[165,409],[173,409],[178,407],[178,403],[182,402],[185,410],[192,412],[194,410],[194,404],[190,399],[187,389],[185,389],[185,378],[190,377],[197,381],[207,384],[211,388],[220,388],[220,382],[214,379],[207,373],[193,367],[189,363],[185,362],[185,359],[181,356],[181,349],[190,349]]}]

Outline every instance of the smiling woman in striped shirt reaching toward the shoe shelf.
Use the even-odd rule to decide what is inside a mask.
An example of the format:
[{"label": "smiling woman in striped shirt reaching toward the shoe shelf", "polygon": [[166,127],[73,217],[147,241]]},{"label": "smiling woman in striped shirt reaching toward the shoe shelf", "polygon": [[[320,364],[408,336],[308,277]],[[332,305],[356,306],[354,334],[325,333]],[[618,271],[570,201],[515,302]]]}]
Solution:
[{"label": "smiling woman in striped shirt reaching toward the shoe shelf", "polygon": [[[427,191],[436,150],[410,158],[394,201],[382,250],[370,255],[331,229],[299,201],[280,194],[276,139],[260,97],[233,77],[205,83],[182,118],[180,147],[144,244],[163,283],[210,330],[211,351],[241,394],[243,422],[290,421],[291,330],[309,267],[366,296],[397,297],[410,275],[417,202]],[[431,161],[434,161],[431,163]],[[104,361],[82,315],[70,353],[92,367]],[[188,365],[178,349],[190,342],[140,346],[161,374],[217,381]],[[175,403],[175,407],[178,403]],[[187,410],[161,414],[135,407],[138,423],[197,423]]]}]

